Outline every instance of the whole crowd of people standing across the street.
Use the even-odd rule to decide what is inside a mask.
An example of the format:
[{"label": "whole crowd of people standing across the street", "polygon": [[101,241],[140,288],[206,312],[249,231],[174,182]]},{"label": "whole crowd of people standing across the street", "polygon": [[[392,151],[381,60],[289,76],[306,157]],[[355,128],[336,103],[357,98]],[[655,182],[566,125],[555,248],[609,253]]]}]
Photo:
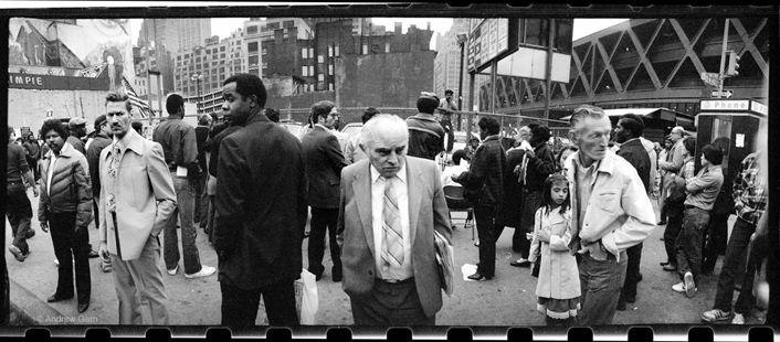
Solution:
[{"label": "whole crowd of people standing across the street", "polygon": [[[308,237],[307,270],[316,280],[328,275],[342,284],[355,324],[433,325],[446,282],[435,246],[452,245],[455,228],[443,188],[461,186],[478,234],[477,269],[467,277],[497,277],[496,241],[514,228],[518,258],[510,265],[538,278],[537,309],[550,325],[612,323],[615,311],[636,300],[643,242],[660,226],[667,255],[661,266],[681,279],[670,290],[695,296],[700,275],[712,274],[725,254],[715,304],[703,320],[744,323],[757,300],[766,302],[762,292],[752,295],[767,254],[760,247],[767,229],[760,150],[725,184],[716,142],[702,148],[695,172],[696,138],[681,127],[661,149],[643,137],[641,117],[623,115],[613,128],[601,108],[589,105],[573,110],[571,143],[549,143],[550,129],[540,122],[503,137],[499,122],[482,116],[478,139],[453,151],[457,106],[451,90],[444,99],[422,93],[419,114],[405,120],[369,107],[351,138],[335,133],[339,113],[331,101],[312,106],[313,129],[298,139],[277,124],[278,110],[265,108],[266,98],[259,77],[238,74],[223,82],[222,122],[201,115],[192,127],[182,120],[183,98],[171,94],[169,116],[146,139],[118,90],[106,96],[106,114],[95,119],[92,135],[83,118],[67,127],[49,119],[40,129],[43,146],[34,136],[20,146],[9,128],[9,252],[19,261],[30,253],[33,213],[25,189],[32,186],[59,265],[49,302],[77,295],[77,310],[85,312],[88,258],[102,257],[116,288],[118,323],[168,324],[157,267],[162,258],[169,276],[181,264],[188,279],[218,274],[223,325],[253,325],[261,297],[271,325],[297,325],[294,281]],[[758,137],[766,139],[766,128]],[[452,164],[442,172],[435,160],[450,152]],[[726,244],[730,213],[738,218]],[[93,220],[97,250],[88,241]],[[212,243],[218,267],[201,264],[198,228]],[[151,321],[140,314],[141,303]]]}]

